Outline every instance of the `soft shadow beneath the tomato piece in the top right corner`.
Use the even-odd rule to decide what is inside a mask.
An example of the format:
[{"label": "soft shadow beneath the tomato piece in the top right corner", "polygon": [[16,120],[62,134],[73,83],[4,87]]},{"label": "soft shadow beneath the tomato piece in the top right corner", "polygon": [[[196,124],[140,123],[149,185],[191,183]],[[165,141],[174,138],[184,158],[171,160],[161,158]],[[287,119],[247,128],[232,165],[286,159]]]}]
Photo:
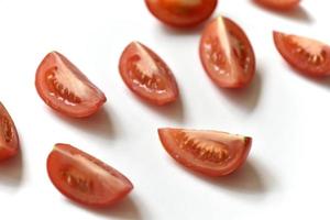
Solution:
[{"label": "soft shadow beneath the tomato piece in the top right corner", "polygon": [[294,21],[305,22],[305,23],[309,23],[309,24],[314,22],[314,19],[310,16],[308,11],[306,11],[306,9],[304,9],[301,6],[298,6],[297,8],[287,10],[287,11],[279,11],[279,10],[274,10],[274,9],[264,7],[264,6],[255,2],[254,0],[252,0],[252,1],[256,7],[263,9],[263,10],[270,11],[273,14],[285,16],[285,18],[294,20]]}]

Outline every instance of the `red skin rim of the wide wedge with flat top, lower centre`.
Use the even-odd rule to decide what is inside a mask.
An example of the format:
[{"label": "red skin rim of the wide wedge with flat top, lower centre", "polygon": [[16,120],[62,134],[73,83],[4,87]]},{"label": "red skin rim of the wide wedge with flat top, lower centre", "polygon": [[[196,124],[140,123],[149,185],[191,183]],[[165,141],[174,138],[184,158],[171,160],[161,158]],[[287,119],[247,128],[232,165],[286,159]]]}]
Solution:
[{"label": "red skin rim of the wide wedge with flat top, lower centre", "polygon": [[228,176],[230,174],[232,174],[233,172],[240,169],[243,165],[244,162],[246,161],[249,153],[251,151],[251,146],[252,146],[252,138],[246,136],[245,138],[245,150],[244,153],[241,155],[240,160],[230,168],[228,168],[226,172],[223,170],[217,170],[217,169],[212,169],[212,168],[202,168],[200,166],[197,166],[196,164],[186,161],[183,156],[176,156],[175,153],[175,148],[172,146],[172,144],[168,142],[168,140],[166,139],[166,130],[182,130],[182,129],[172,129],[172,128],[166,128],[166,129],[158,129],[158,136],[160,140],[165,148],[165,151],[179,164],[182,164],[183,166],[197,172],[199,174],[209,176],[209,177],[221,177],[221,176]]}]

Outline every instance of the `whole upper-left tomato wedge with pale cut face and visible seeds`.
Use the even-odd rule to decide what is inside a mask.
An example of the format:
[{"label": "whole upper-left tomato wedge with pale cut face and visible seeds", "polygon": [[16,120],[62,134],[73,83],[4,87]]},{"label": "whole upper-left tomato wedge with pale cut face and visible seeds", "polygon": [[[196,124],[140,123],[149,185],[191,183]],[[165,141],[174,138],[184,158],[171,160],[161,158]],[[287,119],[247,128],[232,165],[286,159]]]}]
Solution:
[{"label": "whole upper-left tomato wedge with pale cut face and visible seeds", "polygon": [[105,94],[58,52],[47,54],[40,64],[35,87],[46,105],[73,118],[89,117],[107,101]]}]

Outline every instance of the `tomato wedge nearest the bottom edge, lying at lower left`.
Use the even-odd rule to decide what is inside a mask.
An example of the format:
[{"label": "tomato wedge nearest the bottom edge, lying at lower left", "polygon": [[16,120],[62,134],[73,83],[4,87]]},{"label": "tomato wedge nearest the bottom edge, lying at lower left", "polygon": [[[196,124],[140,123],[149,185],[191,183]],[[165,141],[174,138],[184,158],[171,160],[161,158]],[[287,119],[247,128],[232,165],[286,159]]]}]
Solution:
[{"label": "tomato wedge nearest the bottom edge, lying at lower left", "polygon": [[110,206],[133,189],[121,173],[68,144],[55,145],[47,158],[47,172],[63,195],[87,206]]}]

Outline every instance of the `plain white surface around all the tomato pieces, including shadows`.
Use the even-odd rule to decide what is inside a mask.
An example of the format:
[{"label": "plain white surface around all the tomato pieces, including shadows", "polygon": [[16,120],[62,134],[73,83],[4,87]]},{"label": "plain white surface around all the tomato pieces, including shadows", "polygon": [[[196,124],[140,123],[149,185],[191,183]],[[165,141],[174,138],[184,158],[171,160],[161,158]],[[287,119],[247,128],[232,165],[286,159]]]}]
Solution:
[{"label": "plain white surface around all the tomato pieces, including shadows", "polygon": [[[257,75],[248,89],[218,89],[198,56],[200,29],[165,28],[142,0],[0,0],[0,100],[15,121],[21,155],[0,164],[1,219],[329,219],[330,79],[296,74],[278,55],[272,31],[330,43],[329,2],[304,0],[275,13],[250,0],[220,0],[217,14],[250,36]],[[175,105],[138,99],[118,73],[133,40],[160,54],[180,89]],[[90,119],[54,113],[34,88],[35,69],[56,50],[108,97]],[[246,165],[209,179],[175,163],[156,129],[213,129],[254,138]],[[92,210],[70,202],[51,184],[46,157],[70,143],[121,170],[134,190],[119,205]]]}]

